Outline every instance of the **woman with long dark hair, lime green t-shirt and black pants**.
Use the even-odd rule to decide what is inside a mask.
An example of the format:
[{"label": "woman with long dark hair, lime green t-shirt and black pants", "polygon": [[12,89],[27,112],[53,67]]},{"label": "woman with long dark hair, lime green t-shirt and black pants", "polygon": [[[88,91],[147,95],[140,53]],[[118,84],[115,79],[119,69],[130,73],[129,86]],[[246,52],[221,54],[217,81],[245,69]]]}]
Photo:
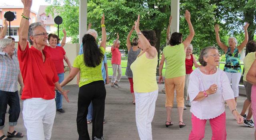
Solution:
[{"label": "woman with long dark hair, lime green t-shirt and black pants", "polygon": [[102,60],[106,48],[106,28],[104,25],[104,14],[101,19],[102,42],[100,48],[95,38],[90,34],[83,37],[83,52],[78,55],[73,64],[68,77],[60,84],[68,84],[80,71],[78,110],[77,110],[77,131],[78,140],[90,140],[87,128],[87,113],[90,102],[93,105],[92,118],[92,139],[104,140],[103,138],[103,119],[105,110],[106,89],[101,73]]}]

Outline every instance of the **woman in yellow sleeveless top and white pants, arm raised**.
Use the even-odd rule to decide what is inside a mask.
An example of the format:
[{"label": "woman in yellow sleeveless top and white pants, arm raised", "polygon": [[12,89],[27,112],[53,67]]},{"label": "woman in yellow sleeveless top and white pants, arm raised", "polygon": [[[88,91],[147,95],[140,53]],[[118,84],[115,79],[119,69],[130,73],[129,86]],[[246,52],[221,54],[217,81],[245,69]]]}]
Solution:
[{"label": "woman in yellow sleeveless top and white pants, arm raised", "polygon": [[135,31],[138,35],[138,46],[142,52],[130,66],[136,102],[136,125],[140,140],[152,140],[151,122],[158,96],[156,33],[153,30],[140,31],[139,25],[140,15],[135,21]]}]

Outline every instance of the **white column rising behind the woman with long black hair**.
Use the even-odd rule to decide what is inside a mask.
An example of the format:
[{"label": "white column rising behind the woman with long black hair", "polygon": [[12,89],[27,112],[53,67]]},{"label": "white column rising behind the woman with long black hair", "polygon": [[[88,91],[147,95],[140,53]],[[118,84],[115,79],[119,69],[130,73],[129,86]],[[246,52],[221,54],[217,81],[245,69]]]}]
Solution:
[{"label": "white column rising behind the woman with long black hair", "polygon": [[80,0],[79,4],[79,44],[87,31],[87,0]]}]

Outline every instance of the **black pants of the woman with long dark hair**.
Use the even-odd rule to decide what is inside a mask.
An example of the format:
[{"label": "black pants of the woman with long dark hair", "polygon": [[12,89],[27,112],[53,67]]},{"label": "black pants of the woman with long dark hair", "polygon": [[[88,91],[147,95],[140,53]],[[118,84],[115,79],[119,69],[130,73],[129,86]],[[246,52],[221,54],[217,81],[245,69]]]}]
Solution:
[{"label": "black pants of the woman with long dark hair", "polygon": [[78,140],[90,140],[87,127],[88,106],[92,101],[92,140],[103,140],[103,119],[106,89],[103,81],[95,81],[79,88],[76,117]]}]

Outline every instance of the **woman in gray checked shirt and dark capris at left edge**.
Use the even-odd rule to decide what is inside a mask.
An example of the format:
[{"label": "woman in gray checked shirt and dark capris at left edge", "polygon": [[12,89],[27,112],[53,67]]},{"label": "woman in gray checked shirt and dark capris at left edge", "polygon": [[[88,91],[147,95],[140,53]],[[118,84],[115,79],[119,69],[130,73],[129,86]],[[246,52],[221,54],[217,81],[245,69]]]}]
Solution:
[{"label": "woman in gray checked shirt and dark capris at left edge", "polygon": [[[18,82],[21,87],[20,92],[22,92],[24,84],[20,74],[17,50],[14,48],[12,39],[0,39],[0,140],[23,137],[22,133],[14,130],[20,116]],[[7,105],[10,106],[8,138],[3,131]]]}]

